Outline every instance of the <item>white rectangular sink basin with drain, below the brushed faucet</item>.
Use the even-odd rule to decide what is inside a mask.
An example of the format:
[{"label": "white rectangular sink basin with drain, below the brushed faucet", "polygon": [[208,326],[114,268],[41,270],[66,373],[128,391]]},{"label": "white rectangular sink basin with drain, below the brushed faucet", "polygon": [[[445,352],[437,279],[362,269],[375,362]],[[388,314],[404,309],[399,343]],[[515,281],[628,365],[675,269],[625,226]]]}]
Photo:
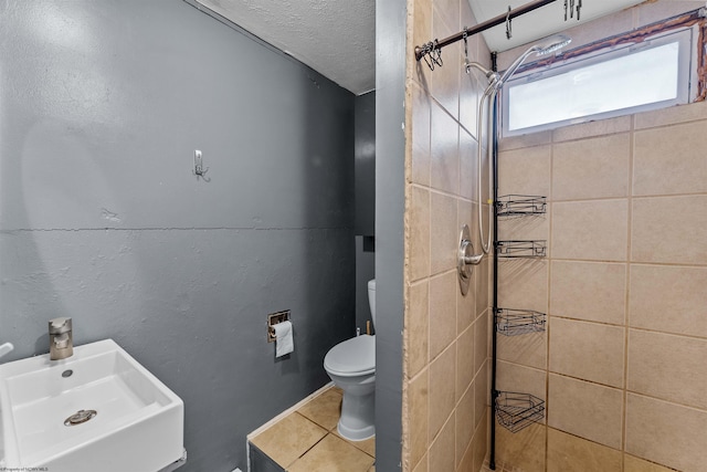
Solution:
[{"label": "white rectangular sink basin with drain, below the brushed faucet", "polygon": [[0,470],[158,472],[184,453],[183,416],[113,339],[0,365]]}]

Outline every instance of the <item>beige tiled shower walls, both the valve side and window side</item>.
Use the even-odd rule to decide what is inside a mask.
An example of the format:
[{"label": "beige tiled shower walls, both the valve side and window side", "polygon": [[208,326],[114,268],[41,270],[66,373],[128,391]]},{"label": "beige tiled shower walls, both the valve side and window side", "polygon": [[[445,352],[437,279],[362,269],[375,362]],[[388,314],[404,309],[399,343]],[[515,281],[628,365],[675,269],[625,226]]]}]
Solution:
[{"label": "beige tiled shower walls, both the valve side and window side", "polygon": [[[589,41],[698,7],[651,2],[570,34]],[[465,1],[411,0],[408,15],[409,56],[415,44],[474,24]],[[469,45],[472,60],[488,56],[483,41]],[[462,51],[445,48],[434,72],[408,66],[409,471],[478,471],[488,448],[492,274],[475,270],[469,307],[444,249],[476,219],[464,188],[475,180],[476,145],[465,114],[479,86],[465,82]],[[499,69],[516,55],[502,54]],[[707,106],[695,103],[502,140],[499,195],[544,195],[548,210],[502,221],[499,239],[547,240],[548,256],[499,264],[499,306],[548,318],[546,332],[499,336],[497,389],[530,392],[547,410],[517,433],[496,426],[496,470],[704,470],[706,130]]]}]

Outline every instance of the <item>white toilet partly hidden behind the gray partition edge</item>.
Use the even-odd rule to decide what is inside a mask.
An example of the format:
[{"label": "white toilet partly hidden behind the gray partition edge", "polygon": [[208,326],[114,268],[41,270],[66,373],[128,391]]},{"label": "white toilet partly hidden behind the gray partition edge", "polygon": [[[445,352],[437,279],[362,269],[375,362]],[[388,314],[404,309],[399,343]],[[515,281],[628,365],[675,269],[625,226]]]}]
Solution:
[{"label": "white toilet partly hidden behind the gray partition edge", "polygon": [[[368,282],[368,304],[376,324],[376,280]],[[376,336],[360,335],[334,346],[324,357],[334,385],[344,390],[337,430],[350,441],[376,434]]]}]

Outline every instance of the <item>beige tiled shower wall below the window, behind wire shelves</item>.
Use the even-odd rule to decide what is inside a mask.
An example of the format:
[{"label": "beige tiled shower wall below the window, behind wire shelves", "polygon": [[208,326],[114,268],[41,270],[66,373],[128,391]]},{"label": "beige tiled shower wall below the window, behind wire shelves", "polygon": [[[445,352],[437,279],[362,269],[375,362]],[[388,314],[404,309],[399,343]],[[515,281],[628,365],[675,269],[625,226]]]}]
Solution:
[{"label": "beige tiled shower wall below the window, behind wire shelves", "polygon": [[551,210],[499,227],[550,241],[547,261],[499,274],[504,303],[549,313],[548,333],[500,339],[499,388],[530,390],[548,412],[547,426],[497,429],[499,462],[704,468],[705,129],[697,103],[503,141],[500,186],[549,195]]}]

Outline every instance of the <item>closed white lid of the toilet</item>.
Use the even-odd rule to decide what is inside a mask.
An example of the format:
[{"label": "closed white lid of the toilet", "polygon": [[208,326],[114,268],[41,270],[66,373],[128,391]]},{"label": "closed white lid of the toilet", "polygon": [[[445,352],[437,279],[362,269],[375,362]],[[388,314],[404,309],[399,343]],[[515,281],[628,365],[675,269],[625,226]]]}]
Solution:
[{"label": "closed white lid of the toilet", "polygon": [[342,377],[376,371],[376,336],[363,334],[334,346],[324,357],[324,368]]}]

